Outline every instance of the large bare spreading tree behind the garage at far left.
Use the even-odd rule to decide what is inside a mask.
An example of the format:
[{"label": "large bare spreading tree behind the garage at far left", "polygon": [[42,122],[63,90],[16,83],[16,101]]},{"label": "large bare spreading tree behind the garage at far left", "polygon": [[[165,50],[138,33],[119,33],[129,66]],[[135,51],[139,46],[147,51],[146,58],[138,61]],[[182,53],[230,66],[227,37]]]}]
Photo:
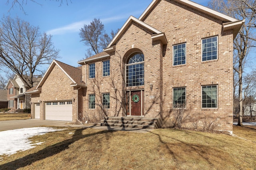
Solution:
[{"label": "large bare spreading tree behind the garage at far left", "polygon": [[38,27],[18,17],[3,17],[0,21],[0,65],[17,73],[29,88],[33,77],[44,74],[42,66],[58,58],[58,53],[52,36],[41,34]]}]

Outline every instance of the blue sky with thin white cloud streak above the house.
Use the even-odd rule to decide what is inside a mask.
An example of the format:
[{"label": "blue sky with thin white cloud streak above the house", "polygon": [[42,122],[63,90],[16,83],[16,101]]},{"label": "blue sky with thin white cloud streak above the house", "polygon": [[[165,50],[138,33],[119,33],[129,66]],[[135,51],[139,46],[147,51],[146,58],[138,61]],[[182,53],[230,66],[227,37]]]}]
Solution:
[{"label": "blue sky with thin white cloud streak above the house", "polygon": [[[94,18],[100,18],[105,26],[106,33],[121,28],[129,16],[139,18],[152,0],[66,0],[60,6],[55,0],[37,0],[36,4],[27,0],[24,5],[26,14],[19,6],[11,8],[11,2],[1,0],[0,14],[10,15],[39,26],[41,32],[52,35],[52,41],[60,49],[58,60],[77,67],[77,62],[84,58],[86,46],[80,42],[79,32],[84,24],[90,24]],[[25,0],[26,1],[26,0]],[[194,2],[207,6],[209,0],[194,0]],[[20,0],[22,2],[22,0]],[[10,10],[10,12],[9,12]],[[46,68],[47,69],[47,68]]]}]

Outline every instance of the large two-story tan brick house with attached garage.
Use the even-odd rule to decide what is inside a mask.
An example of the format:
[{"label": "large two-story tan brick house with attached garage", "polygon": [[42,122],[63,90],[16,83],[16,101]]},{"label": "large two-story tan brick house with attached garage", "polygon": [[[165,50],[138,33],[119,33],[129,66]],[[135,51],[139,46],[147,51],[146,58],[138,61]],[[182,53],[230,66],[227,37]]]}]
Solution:
[{"label": "large two-story tan brick house with attached garage", "polygon": [[188,123],[217,119],[232,131],[233,40],[243,23],[189,0],[153,0],[103,52],[79,61],[82,70],[53,61],[31,93],[34,118],[62,120],[55,111],[72,102],[72,121],[104,111],[171,126],[182,104]]}]

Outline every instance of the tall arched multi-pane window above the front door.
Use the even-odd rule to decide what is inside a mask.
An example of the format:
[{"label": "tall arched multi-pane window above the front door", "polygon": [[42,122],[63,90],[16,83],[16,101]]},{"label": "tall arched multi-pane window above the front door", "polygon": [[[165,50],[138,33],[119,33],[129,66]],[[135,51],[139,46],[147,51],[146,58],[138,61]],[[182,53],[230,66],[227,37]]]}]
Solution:
[{"label": "tall arched multi-pane window above the front door", "polygon": [[144,55],[133,53],[126,63],[126,87],[144,85]]}]

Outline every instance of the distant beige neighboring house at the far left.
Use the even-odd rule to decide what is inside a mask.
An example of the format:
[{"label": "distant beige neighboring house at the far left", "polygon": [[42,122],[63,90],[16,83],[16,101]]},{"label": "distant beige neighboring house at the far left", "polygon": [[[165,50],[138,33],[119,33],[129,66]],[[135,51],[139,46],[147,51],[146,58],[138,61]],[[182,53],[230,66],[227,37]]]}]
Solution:
[{"label": "distant beige neighboring house at the far left", "polygon": [[[35,79],[40,81],[41,78]],[[34,84],[37,83],[38,82],[35,81]],[[5,89],[7,90],[8,109],[10,109],[11,112],[30,108],[30,94],[26,95],[25,93],[29,88],[17,74],[13,79],[9,79]]]}]

